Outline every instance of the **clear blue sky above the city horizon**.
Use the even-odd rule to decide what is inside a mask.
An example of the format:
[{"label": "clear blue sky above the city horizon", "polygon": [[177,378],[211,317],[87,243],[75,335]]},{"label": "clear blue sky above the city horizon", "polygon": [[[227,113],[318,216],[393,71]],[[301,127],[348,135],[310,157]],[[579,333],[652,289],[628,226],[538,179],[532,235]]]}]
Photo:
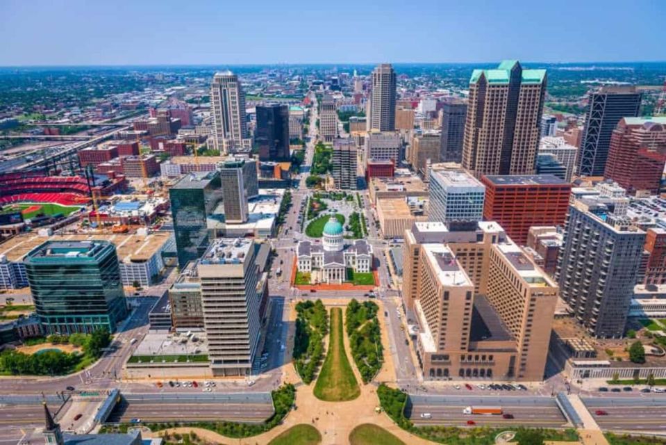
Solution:
[{"label": "clear blue sky above the city horizon", "polygon": [[666,60],[666,0],[0,0],[0,65]]}]

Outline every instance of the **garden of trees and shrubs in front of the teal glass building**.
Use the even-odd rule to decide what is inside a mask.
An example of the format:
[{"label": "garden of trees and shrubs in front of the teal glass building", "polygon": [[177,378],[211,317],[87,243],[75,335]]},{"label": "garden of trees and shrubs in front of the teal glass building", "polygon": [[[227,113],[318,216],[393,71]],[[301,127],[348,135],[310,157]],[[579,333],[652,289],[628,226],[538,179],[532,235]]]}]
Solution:
[{"label": "garden of trees and shrubs in front of the teal glass building", "polygon": [[[92,334],[50,335],[43,348],[26,354],[17,350],[5,350],[0,355],[0,374],[4,375],[65,375],[87,368],[102,355],[103,348],[111,343],[106,330]],[[33,342],[33,346],[41,343]],[[71,353],[60,350],[60,345],[75,348]]]}]

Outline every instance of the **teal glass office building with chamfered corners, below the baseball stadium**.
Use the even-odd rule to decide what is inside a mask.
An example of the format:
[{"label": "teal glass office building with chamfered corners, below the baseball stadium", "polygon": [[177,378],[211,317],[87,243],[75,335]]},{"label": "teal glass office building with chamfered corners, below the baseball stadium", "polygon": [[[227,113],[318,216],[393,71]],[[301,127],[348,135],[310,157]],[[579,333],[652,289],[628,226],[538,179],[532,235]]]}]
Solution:
[{"label": "teal glass office building with chamfered corners, below the baseball stadium", "polygon": [[115,246],[47,241],[25,259],[35,312],[47,334],[115,332],[127,315]]}]

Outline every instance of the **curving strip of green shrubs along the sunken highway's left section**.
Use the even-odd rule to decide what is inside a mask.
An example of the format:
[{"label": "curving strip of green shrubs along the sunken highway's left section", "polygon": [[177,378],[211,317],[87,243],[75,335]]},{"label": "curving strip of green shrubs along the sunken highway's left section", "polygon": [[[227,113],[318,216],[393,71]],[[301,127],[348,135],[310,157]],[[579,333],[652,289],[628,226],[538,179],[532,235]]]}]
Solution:
[{"label": "curving strip of green shrubs along the sunken highway's left section", "polygon": [[[251,437],[260,435],[263,432],[272,430],[280,425],[285,416],[294,406],[296,398],[296,388],[294,385],[285,384],[271,392],[275,413],[266,419],[263,423],[241,423],[241,422],[169,422],[169,423],[144,423],[151,431],[156,432],[167,428],[177,428],[179,426],[190,426],[192,428],[203,428],[217,432],[219,435],[233,438]],[[104,432],[127,432],[128,428],[135,428],[137,423],[117,423],[106,425],[101,428],[100,433]]]}]

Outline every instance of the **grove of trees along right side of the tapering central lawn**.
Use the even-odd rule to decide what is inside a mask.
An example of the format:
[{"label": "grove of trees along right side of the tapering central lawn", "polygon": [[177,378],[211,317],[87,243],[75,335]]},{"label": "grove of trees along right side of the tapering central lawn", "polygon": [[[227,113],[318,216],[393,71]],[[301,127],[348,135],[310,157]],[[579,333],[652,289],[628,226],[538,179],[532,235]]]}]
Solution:
[{"label": "grove of trees along right side of the tapering central lawn", "polygon": [[351,355],[363,383],[372,380],[384,362],[378,310],[375,302],[351,300],[345,314]]}]

